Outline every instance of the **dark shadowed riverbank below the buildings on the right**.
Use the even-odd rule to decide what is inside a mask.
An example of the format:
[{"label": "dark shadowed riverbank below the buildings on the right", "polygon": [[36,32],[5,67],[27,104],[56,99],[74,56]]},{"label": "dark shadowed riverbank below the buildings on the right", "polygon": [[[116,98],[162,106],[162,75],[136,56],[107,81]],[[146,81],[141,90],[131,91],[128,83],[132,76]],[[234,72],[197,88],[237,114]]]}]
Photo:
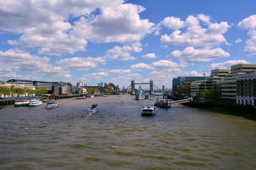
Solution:
[{"label": "dark shadowed riverbank below the buildings on the right", "polygon": [[243,105],[231,105],[231,104],[218,104],[218,103],[201,103],[196,101],[190,101],[188,103],[182,103],[183,105],[202,109],[218,109],[226,111],[225,114],[232,114],[234,116],[241,116],[250,120],[256,121],[256,109],[253,107],[247,107]]}]

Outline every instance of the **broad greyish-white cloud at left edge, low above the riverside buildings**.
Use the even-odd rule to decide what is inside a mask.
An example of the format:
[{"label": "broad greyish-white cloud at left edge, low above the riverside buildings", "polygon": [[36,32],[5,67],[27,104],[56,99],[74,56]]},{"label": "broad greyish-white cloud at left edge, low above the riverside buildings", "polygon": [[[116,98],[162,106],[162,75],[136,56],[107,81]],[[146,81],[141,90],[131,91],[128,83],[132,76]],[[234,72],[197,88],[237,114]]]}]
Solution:
[{"label": "broad greyish-white cloud at left edge, low above the riverside buildings", "polygon": [[[0,50],[0,60],[3,71],[9,73],[27,72],[31,75],[46,75],[51,77],[67,77],[69,71],[49,64],[50,58],[31,55],[20,49]],[[11,68],[11,70],[10,70]]]}]

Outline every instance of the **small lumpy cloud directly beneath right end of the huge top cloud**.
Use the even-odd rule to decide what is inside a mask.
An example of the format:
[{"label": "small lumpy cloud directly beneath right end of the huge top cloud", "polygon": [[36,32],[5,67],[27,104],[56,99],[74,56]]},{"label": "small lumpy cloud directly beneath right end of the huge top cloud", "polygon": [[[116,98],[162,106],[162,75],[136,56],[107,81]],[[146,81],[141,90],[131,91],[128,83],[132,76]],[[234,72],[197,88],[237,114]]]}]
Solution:
[{"label": "small lumpy cloud directly beneath right end of the huge top cloud", "polygon": [[132,46],[125,45],[120,47],[116,45],[113,49],[106,51],[106,57],[109,59],[117,59],[122,61],[134,60],[137,59],[137,57],[131,56],[131,53],[141,51],[142,48],[140,42],[135,42]]}]

